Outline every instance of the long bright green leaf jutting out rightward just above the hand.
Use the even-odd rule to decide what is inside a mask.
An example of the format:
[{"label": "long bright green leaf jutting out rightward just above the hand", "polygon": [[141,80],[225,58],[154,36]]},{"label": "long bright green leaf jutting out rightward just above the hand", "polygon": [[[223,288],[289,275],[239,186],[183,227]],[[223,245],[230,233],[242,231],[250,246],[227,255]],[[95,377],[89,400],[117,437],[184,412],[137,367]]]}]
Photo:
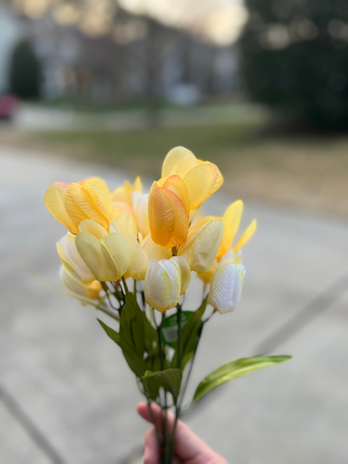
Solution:
[{"label": "long bright green leaf jutting out rightward just above the hand", "polygon": [[253,358],[242,358],[231,361],[219,367],[211,374],[207,375],[197,387],[193,401],[202,398],[215,387],[222,385],[229,380],[236,379],[249,372],[261,369],[262,367],[273,366],[280,362],[290,359],[291,356],[254,356]]}]

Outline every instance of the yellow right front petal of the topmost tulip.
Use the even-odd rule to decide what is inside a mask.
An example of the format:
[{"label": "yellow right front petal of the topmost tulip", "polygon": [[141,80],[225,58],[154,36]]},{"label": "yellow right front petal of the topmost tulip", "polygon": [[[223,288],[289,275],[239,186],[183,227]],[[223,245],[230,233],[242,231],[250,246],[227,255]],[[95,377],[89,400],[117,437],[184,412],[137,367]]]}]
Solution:
[{"label": "yellow right front petal of the topmost tulip", "polygon": [[190,169],[184,177],[190,208],[196,209],[213,191],[218,171],[211,163],[202,163]]}]

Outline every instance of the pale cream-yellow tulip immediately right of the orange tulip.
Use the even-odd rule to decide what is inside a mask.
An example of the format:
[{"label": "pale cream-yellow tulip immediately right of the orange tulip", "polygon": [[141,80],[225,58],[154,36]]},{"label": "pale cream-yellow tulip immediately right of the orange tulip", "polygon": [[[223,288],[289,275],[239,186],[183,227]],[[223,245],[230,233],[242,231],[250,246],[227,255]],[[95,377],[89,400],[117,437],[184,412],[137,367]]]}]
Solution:
[{"label": "pale cream-yellow tulip immediately right of the orange tulip", "polygon": [[202,218],[195,224],[187,236],[185,243],[180,245],[178,256],[186,258],[192,271],[204,273],[212,266],[224,231],[220,219],[213,216]]}]

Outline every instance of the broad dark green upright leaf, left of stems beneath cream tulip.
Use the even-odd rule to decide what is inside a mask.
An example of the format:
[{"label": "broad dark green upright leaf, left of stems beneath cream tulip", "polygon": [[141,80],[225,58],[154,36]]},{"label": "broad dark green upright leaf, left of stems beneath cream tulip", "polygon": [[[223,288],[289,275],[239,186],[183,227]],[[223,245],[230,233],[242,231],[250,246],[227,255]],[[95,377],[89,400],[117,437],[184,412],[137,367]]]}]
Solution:
[{"label": "broad dark green upright leaf, left of stems beneath cream tulip", "polygon": [[129,292],[121,313],[120,335],[129,345],[135,348],[141,357],[145,351],[143,314],[135,296]]}]

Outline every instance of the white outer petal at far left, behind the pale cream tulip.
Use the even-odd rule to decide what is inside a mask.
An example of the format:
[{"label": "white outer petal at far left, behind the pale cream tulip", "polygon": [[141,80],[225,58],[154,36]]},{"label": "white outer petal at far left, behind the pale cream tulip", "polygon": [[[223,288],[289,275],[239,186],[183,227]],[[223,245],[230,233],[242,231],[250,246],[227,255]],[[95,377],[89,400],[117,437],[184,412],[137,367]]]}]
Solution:
[{"label": "white outer petal at far left, behind the pale cream tulip", "polygon": [[71,273],[76,272],[82,279],[91,282],[95,279],[84,260],[77,252],[75,235],[67,234],[57,243],[57,251],[64,267]]}]

